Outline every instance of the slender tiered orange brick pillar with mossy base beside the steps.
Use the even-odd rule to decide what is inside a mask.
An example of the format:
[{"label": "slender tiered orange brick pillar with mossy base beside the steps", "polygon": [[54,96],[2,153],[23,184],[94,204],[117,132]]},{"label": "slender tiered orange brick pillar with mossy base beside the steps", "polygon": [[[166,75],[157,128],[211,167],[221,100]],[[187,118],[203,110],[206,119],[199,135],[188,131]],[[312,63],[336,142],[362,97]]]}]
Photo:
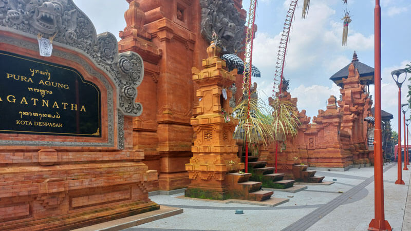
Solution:
[{"label": "slender tiered orange brick pillar with mossy base beside the steps", "polygon": [[[221,49],[213,43],[207,48],[208,59],[202,61],[203,70],[193,67],[193,80],[198,84],[195,108],[197,117],[191,119],[195,133],[193,157],[185,169],[191,183],[185,190],[186,197],[224,200],[228,197],[229,172],[244,169],[237,157],[238,146],[233,139],[236,121],[225,122],[221,109],[231,114],[229,106],[232,92],[228,87],[235,76],[225,67],[219,56]],[[223,97],[227,91],[227,99]]]}]

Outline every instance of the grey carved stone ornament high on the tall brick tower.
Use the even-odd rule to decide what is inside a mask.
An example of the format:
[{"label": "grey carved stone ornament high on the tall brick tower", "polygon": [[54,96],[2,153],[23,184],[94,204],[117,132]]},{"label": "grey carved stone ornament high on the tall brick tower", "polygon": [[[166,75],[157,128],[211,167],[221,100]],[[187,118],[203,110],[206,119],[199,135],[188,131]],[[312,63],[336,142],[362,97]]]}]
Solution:
[{"label": "grey carved stone ornament high on the tall brick tower", "polygon": [[221,40],[223,53],[240,50],[246,34],[246,23],[234,7],[233,0],[200,0],[201,34],[209,42],[215,31]]}]

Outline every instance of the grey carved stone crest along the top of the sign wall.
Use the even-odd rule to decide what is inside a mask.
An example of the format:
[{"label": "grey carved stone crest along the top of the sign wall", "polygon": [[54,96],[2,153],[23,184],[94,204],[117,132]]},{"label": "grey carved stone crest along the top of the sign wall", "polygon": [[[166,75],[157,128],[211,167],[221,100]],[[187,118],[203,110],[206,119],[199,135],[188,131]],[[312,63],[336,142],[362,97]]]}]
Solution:
[{"label": "grey carved stone crest along the top of the sign wall", "polygon": [[97,35],[94,25],[72,0],[0,0],[0,30],[5,27],[35,36],[55,35],[53,43],[85,52],[116,83],[118,109],[124,115],[142,113],[142,105],[134,102],[144,74],[140,55],[119,54],[116,37],[108,32]]}]

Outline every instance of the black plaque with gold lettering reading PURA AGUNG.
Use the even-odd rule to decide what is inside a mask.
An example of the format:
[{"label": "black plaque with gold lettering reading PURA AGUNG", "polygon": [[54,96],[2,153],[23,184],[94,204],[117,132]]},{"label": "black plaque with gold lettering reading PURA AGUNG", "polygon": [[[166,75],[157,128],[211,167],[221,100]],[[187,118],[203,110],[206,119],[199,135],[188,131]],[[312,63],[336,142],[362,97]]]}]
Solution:
[{"label": "black plaque with gold lettering reading PURA AGUNG", "polygon": [[75,69],[0,51],[0,132],[101,137],[99,88]]}]

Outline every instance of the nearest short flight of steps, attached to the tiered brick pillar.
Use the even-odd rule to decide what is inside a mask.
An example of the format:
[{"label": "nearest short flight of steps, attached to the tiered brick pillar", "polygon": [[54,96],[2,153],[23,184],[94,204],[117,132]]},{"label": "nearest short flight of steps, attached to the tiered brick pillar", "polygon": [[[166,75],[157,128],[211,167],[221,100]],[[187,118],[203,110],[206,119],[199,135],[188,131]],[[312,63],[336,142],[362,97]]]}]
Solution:
[{"label": "nearest short flight of steps, attached to the tiered brick pillar", "polygon": [[264,201],[271,198],[273,191],[260,190],[261,182],[249,181],[250,173],[239,174],[238,172],[227,174],[229,198]]}]

